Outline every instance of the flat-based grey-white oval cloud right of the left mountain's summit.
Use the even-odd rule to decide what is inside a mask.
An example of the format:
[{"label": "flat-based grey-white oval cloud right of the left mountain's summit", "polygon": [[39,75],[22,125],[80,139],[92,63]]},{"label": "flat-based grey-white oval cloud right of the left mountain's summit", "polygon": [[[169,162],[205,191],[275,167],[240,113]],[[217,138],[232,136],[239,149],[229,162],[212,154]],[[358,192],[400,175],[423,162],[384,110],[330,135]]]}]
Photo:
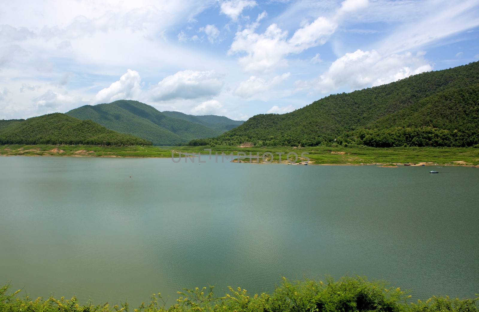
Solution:
[{"label": "flat-based grey-white oval cloud right of the left mountain's summit", "polygon": [[222,87],[223,82],[214,70],[183,70],[158,82],[151,90],[151,98],[154,101],[168,101],[210,97],[217,95]]}]

